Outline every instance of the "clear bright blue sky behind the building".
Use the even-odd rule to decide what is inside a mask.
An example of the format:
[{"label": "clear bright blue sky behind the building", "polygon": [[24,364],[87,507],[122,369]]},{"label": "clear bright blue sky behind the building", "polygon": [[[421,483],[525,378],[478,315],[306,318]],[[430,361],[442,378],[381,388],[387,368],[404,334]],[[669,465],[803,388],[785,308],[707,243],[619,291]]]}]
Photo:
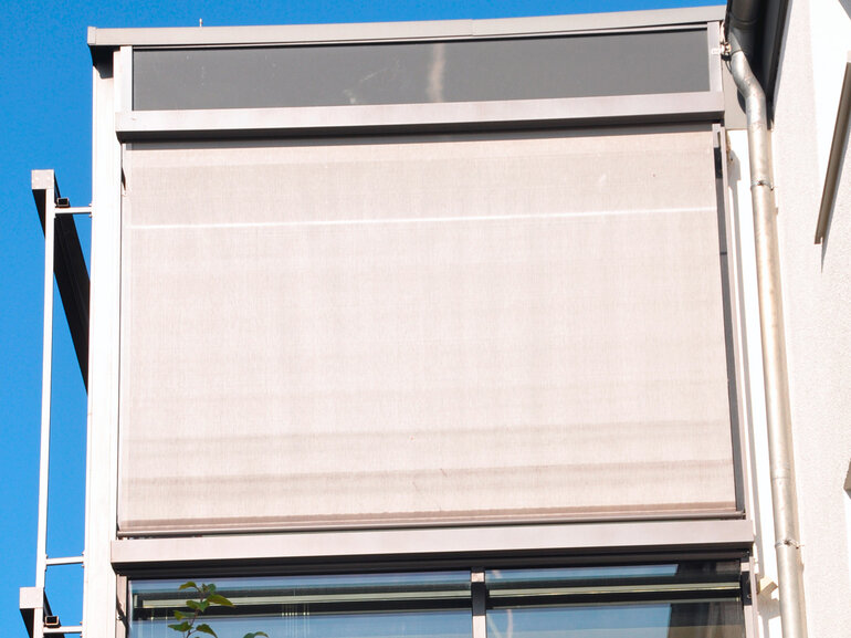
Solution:
[{"label": "clear bright blue sky behind the building", "polygon": [[[91,200],[92,71],[86,28],[206,27],[551,15],[717,4],[706,0],[7,0],[0,9],[0,636],[23,638],[18,588],[35,581],[44,240],[30,171],[54,168],[73,206]],[[87,238],[87,220],[81,233]],[[86,399],[56,297],[49,554],[83,550]],[[80,567],[52,568],[63,624],[81,619]]]}]

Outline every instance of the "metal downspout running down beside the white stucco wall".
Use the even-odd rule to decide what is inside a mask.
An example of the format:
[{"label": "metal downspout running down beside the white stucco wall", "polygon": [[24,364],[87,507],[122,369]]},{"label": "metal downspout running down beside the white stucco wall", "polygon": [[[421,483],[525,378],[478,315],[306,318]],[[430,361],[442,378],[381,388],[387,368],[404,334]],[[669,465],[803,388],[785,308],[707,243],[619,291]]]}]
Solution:
[{"label": "metal downspout running down beside the white stucco wall", "polygon": [[745,98],[754,208],[759,327],[763,338],[768,457],[774,504],[775,551],[784,638],[806,638],[807,616],[798,533],[798,498],[791,447],[789,380],[784,334],[777,207],[765,92],[750,69],[759,0],[731,0],[728,8],[729,67]]}]

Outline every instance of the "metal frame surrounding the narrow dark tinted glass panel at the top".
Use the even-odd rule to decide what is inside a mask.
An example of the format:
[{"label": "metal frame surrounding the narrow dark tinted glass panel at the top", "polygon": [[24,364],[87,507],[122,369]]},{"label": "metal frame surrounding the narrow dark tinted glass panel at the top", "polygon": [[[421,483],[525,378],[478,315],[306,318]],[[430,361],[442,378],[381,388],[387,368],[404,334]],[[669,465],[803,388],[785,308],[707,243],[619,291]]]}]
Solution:
[{"label": "metal frame surrounding the narrow dark tinted glass panel at the top", "polygon": [[[635,32],[664,28],[706,30],[708,91],[643,95],[600,95],[593,97],[506,100],[492,102],[458,102],[437,104],[385,104],[356,106],[311,106],[280,108],[219,108],[180,111],[133,111],[132,73],[123,79],[124,107],[115,116],[115,129],[122,142],[138,139],[280,137],[332,134],[366,134],[381,132],[445,132],[493,130],[505,128],[540,128],[565,126],[617,125],[633,122],[675,123],[719,121],[725,104],[721,65],[721,24],[716,11],[686,9],[676,11],[640,11],[629,14],[589,14],[556,18],[528,18],[434,23],[387,23],[356,25],[313,25],[284,28],[233,28],[201,30],[108,30],[90,33],[90,44],[132,42],[165,44],[180,41],[185,45],[264,42],[286,44],[338,43],[343,33],[347,42],[452,39],[463,33],[465,39],[491,35],[528,36],[530,34]],[[632,18],[624,21],[624,15]],[[663,22],[679,18],[681,22]],[[632,25],[630,25],[630,23]],[[471,27],[473,24],[473,27]],[[597,25],[597,31],[589,28]],[[608,24],[601,28],[600,24]],[[618,28],[612,25],[617,24]],[[250,31],[243,30],[250,29]],[[270,32],[264,31],[271,30]],[[260,31],[258,31],[260,30]],[[263,38],[263,34],[269,38]],[[239,39],[237,39],[239,34]],[[274,34],[274,38],[272,38]],[[123,39],[119,36],[124,36]],[[201,35],[199,38],[199,35]],[[183,38],[185,40],[180,40]],[[244,40],[242,40],[244,39]],[[96,44],[93,44],[95,42]],[[129,56],[133,48],[122,46]]]}]

